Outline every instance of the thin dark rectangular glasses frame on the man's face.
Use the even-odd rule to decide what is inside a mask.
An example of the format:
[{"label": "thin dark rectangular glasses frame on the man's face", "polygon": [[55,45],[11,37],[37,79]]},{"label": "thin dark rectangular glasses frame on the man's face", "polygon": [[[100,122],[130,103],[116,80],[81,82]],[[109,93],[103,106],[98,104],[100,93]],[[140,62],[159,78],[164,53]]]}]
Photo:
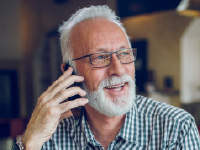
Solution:
[{"label": "thin dark rectangular glasses frame on the man's face", "polygon": [[[123,50],[127,50],[127,49],[131,49],[131,50],[133,51],[133,55],[134,55],[135,59],[134,59],[133,61],[129,62],[129,63],[122,63],[121,60],[119,59],[117,53],[120,52],[120,51],[123,51]],[[111,64],[111,61],[112,61],[112,54],[114,54],[114,53],[116,54],[117,58],[120,60],[120,62],[121,62],[122,64],[130,64],[130,63],[136,61],[137,48],[123,48],[123,49],[120,49],[120,50],[118,50],[118,51],[116,51],[116,52],[99,52],[99,53],[92,53],[92,54],[88,54],[88,55],[85,55],[85,56],[82,56],[82,57],[79,57],[79,58],[72,59],[72,61],[76,61],[76,60],[80,60],[80,59],[89,57],[89,59],[90,59],[90,64],[93,66],[92,60],[91,60],[91,55],[94,55],[94,54],[101,54],[101,53],[110,54],[110,63],[107,64],[107,65],[105,65],[105,66],[103,66],[103,67],[109,66],[109,65]],[[95,67],[95,66],[93,66],[93,67],[94,67],[94,68],[103,68],[103,67]]]}]

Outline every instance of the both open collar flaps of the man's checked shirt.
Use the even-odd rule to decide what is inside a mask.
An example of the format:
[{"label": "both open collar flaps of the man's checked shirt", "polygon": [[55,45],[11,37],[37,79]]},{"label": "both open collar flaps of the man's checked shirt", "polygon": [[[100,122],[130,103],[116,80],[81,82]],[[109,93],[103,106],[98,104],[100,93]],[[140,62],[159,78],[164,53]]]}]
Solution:
[{"label": "both open collar flaps of the man's checked shirt", "polygon": [[[71,132],[71,136],[74,137],[78,143],[81,144],[81,147],[87,147],[88,143],[92,145],[99,146],[92,131],[89,129],[89,126],[85,119],[85,109],[82,109],[79,118],[75,118],[75,126],[74,131]],[[138,145],[138,134],[139,134],[139,124],[138,124],[138,110],[135,104],[135,100],[133,103],[133,107],[126,114],[124,125],[119,131],[118,135],[124,140],[128,140],[131,143]]]}]

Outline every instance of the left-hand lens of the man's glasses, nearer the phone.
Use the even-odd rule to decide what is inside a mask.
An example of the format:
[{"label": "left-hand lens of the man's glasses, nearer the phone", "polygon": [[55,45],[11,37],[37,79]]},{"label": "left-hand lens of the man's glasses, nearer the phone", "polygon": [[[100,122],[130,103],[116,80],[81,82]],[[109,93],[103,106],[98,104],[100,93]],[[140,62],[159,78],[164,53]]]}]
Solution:
[{"label": "left-hand lens of the man's glasses, nearer the phone", "polygon": [[97,53],[90,55],[93,67],[104,67],[110,64],[110,53]]}]

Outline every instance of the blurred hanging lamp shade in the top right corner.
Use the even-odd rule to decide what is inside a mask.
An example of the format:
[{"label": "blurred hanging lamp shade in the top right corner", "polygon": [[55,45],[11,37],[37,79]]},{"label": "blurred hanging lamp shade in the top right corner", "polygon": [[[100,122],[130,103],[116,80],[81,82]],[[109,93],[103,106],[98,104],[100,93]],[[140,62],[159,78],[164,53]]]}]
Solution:
[{"label": "blurred hanging lamp shade in the top right corner", "polygon": [[176,10],[184,16],[200,17],[200,0],[181,0]]}]

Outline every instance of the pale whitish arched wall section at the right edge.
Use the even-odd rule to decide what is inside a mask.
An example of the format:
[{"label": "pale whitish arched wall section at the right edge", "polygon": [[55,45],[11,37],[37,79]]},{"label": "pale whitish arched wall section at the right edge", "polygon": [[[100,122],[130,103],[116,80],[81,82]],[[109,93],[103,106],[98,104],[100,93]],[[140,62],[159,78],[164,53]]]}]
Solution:
[{"label": "pale whitish arched wall section at the right edge", "polygon": [[200,19],[196,18],[180,40],[181,100],[200,102]]}]

